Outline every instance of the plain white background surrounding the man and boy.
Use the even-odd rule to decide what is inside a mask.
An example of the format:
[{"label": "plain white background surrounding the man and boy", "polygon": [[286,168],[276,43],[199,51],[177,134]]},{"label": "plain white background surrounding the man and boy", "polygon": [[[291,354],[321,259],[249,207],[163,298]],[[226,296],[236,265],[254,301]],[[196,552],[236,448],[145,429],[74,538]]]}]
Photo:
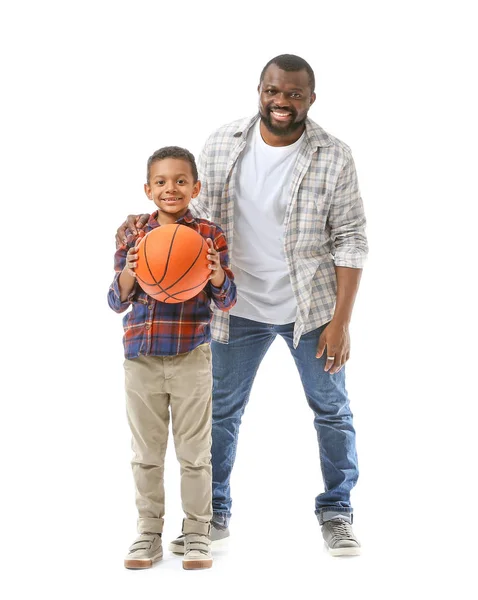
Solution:
[{"label": "plain white background surrounding the man and boy", "polygon": [[[476,593],[472,2],[21,2],[0,13],[4,598],[471,598]],[[370,258],[347,383],[357,559],[323,550],[313,416],[278,340],[258,374],[213,569],[127,571],[136,512],[114,233],[147,157],[252,115],[263,65],[314,68],[352,148]],[[166,468],[165,540],[180,531]],[[474,555],[474,556],[473,556]],[[475,560],[473,560],[475,558]]]}]

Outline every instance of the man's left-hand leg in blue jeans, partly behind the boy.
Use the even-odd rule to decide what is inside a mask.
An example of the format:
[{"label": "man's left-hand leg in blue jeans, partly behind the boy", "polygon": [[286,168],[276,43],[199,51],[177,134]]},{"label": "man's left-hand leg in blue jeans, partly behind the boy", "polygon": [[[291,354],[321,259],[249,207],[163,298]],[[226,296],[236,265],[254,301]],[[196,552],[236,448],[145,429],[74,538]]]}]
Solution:
[{"label": "man's left-hand leg in blue jeans, partly behind the boy", "polygon": [[257,369],[275,338],[273,326],[231,315],[229,343],[212,343],[213,524],[231,516],[230,477],[242,415]]}]

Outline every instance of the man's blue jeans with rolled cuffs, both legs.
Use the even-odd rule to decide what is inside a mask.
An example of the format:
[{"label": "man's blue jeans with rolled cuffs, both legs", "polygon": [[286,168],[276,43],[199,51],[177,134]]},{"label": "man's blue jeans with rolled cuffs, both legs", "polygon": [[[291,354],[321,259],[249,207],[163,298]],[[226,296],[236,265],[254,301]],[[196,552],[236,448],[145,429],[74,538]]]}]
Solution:
[{"label": "man's blue jeans with rolled cuffs, both legs", "polygon": [[[228,525],[231,516],[230,477],[244,409],[267,350],[277,335],[286,341],[315,419],[325,491],[315,499],[319,522],[352,520],[350,491],[358,479],[355,430],[345,390],[345,369],[324,371],[325,352],[315,357],[325,325],[302,335],[293,347],[294,324],[269,325],[231,315],[229,343],[212,342],[212,478],[213,521]],[[279,451],[279,449],[278,449]]]}]

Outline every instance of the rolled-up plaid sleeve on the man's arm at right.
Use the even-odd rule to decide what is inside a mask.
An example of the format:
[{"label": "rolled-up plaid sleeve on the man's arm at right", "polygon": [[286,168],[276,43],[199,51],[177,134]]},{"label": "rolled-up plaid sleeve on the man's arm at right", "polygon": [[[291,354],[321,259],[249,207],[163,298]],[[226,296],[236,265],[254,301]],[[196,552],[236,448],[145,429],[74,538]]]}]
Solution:
[{"label": "rolled-up plaid sleeve on the man's arm at right", "polygon": [[361,269],[368,255],[366,219],[351,156],[338,177],[328,224],[335,265]]}]

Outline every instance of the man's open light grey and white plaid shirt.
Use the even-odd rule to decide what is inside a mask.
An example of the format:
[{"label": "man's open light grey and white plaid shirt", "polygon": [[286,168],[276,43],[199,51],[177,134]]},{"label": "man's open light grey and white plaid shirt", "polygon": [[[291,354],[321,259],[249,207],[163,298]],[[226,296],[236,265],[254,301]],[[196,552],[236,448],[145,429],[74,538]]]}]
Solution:
[{"label": "man's open light grey and white plaid shirt", "polygon": [[[194,214],[219,223],[234,264],[235,165],[259,118],[234,121],[214,132],[198,161],[201,192]],[[365,215],[350,148],[311,119],[299,151],[285,217],[284,251],[297,300],[294,346],[330,321],[335,309],[335,266],[362,268],[368,253]],[[229,315],[214,310],[213,338],[226,343]]]}]

